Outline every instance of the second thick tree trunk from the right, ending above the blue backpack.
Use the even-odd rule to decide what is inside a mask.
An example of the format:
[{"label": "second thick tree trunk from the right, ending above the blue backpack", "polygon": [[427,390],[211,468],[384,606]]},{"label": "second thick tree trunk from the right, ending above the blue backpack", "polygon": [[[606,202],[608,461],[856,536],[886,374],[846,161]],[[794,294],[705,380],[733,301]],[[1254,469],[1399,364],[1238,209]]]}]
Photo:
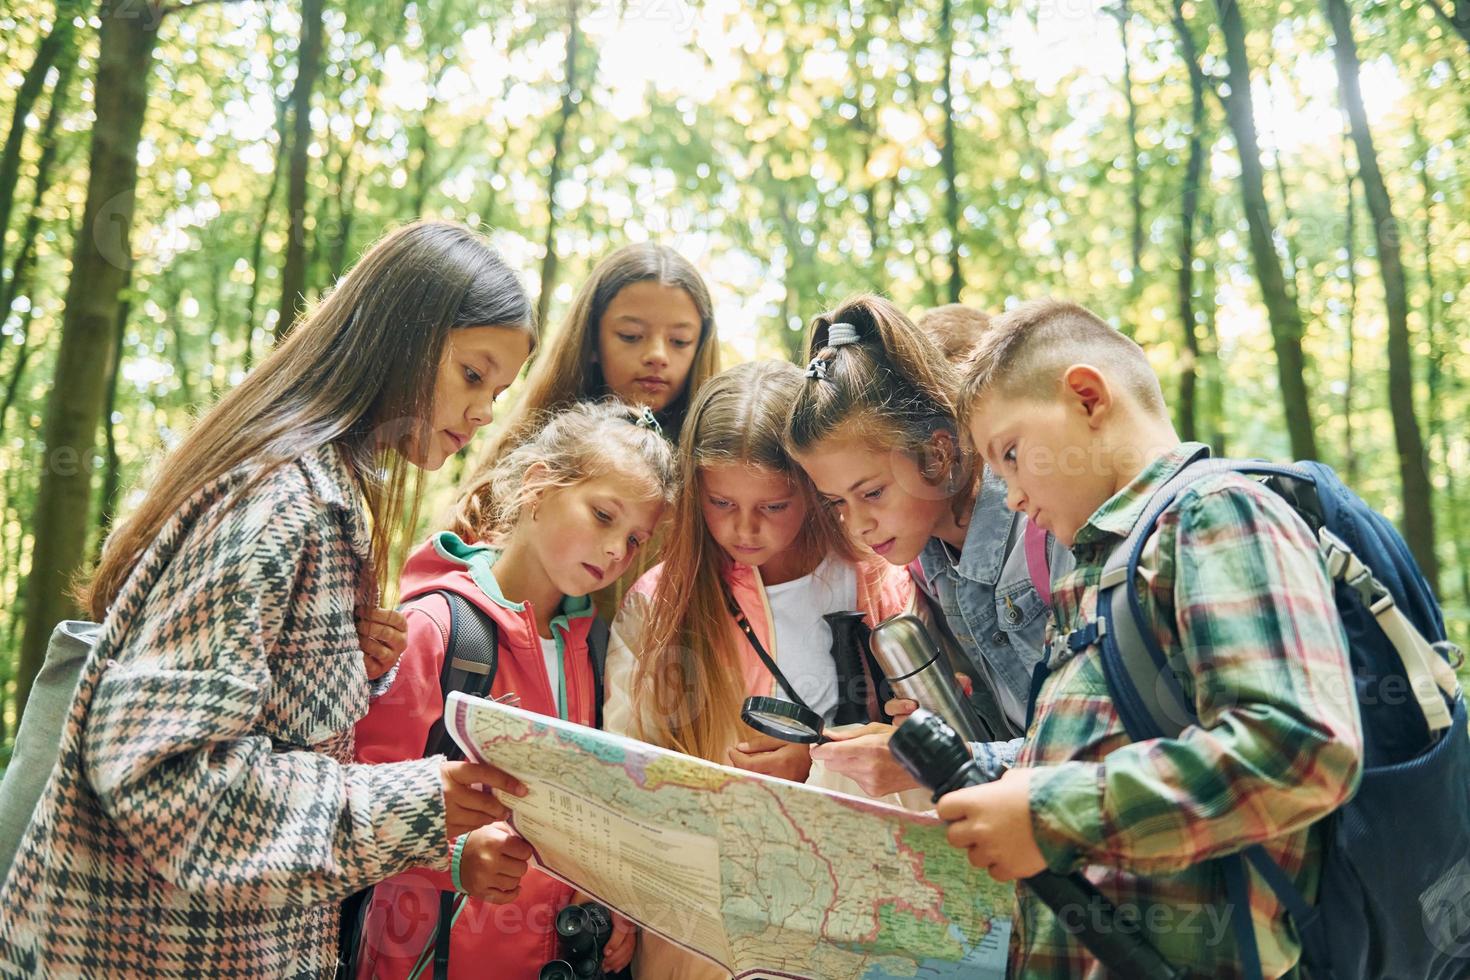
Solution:
[{"label": "second thick tree trunk from the right, ending above the blue backpack", "polygon": [[1216,0],[1216,7],[1220,15],[1220,29],[1225,34],[1226,62],[1229,63],[1230,96],[1225,101],[1225,109],[1241,156],[1241,198],[1250,226],[1255,279],[1261,285],[1261,298],[1272,325],[1276,378],[1282,389],[1286,432],[1291,436],[1292,455],[1299,460],[1314,460],[1317,458],[1317,436],[1307,397],[1307,359],[1301,350],[1301,310],[1286,292],[1286,279],[1282,275],[1280,257],[1276,254],[1273,242],[1274,229],[1270,209],[1266,204],[1261,150],[1255,140],[1255,115],[1251,106],[1251,63],[1245,51],[1245,24],[1241,21],[1241,9],[1235,0]]}]

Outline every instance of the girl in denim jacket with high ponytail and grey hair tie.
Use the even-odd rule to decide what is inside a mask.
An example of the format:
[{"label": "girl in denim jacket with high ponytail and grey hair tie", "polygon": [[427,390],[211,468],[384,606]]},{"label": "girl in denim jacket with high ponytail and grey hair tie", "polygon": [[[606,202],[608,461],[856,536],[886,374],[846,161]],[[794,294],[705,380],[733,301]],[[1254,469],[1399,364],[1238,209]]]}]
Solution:
[{"label": "girl in denim jacket with high ponytail and grey hair tie", "polygon": [[[817,316],[807,356],[786,423],[791,457],[854,541],[908,566],[973,682],[972,705],[992,738],[976,752],[1008,764],[1042,657],[1047,569],[1064,572],[1072,555],[1005,508],[1004,482],[966,445],[954,367],[892,303],[856,295]],[[908,789],[888,754],[891,730],[873,724],[811,757],[869,793]]]}]

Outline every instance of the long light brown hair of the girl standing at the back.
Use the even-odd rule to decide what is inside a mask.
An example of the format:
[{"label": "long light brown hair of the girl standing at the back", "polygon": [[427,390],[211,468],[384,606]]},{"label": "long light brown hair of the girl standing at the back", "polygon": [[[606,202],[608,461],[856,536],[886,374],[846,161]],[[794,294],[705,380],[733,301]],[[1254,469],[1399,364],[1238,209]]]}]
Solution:
[{"label": "long light brown hair of the girl standing at the back", "polygon": [[[657,282],[684,289],[700,314],[700,339],[684,394],[657,414],[664,433],[678,441],[692,392],[719,372],[714,304],[704,278],[673,248],[656,242],[625,245],[597,263],[592,275],[582,284],[576,298],[572,300],[562,331],[531,367],[526,389],[504,429],[479,457],[456,505],[456,523],[463,529],[469,529],[494,511],[495,502],[488,495],[490,485],[484,475],[501,453],[531,436],[538,419],[545,419],[548,413],[573,403],[597,401],[612,394],[595,360],[598,326],[613,297],[637,282]],[[465,516],[467,519],[460,520]]]}]

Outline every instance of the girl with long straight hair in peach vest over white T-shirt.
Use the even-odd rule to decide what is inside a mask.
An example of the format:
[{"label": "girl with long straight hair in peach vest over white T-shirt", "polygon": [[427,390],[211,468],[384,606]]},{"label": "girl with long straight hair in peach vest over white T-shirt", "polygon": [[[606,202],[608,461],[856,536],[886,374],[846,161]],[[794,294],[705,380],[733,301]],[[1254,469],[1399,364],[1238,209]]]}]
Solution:
[{"label": "girl with long straight hair in peach vest over white T-shirt", "polygon": [[[823,614],[858,611],[875,626],[908,608],[914,592],[901,567],[854,551],[786,457],[782,430],[800,385],[794,364],[756,361],[695,394],[679,439],[682,491],[664,529],[663,563],[637,582],[613,621],[604,723],[726,765],[833,786],[813,773],[806,745],[741,721],[748,695],[786,692],[729,604],[801,699],[831,718],[851,693],[839,689]],[[866,708],[876,707],[869,699]],[[678,942],[679,909],[669,912],[647,924]],[[647,932],[635,974],[728,976]]]}]

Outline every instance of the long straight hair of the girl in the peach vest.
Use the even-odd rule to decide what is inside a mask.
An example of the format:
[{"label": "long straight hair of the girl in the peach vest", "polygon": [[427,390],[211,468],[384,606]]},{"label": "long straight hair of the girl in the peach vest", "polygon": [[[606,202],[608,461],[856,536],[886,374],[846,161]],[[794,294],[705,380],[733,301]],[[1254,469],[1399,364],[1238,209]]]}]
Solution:
[{"label": "long straight hair of the girl in the peach vest", "polygon": [[[786,476],[807,504],[794,542],[814,566],[835,554],[857,561],[832,511],[782,445],[786,410],[801,388],[801,370],[786,361],[738,364],[709,381],[694,398],[679,439],[681,492],[663,550],[663,573],[639,635],[634,711],[639,738],[666,748],[726,761],[745,696],[736,642],[725,599],[731,558],[710,536],[701,507],[700,469],[745,463]],[[738,638],[738,639],[736,639]]]}]

